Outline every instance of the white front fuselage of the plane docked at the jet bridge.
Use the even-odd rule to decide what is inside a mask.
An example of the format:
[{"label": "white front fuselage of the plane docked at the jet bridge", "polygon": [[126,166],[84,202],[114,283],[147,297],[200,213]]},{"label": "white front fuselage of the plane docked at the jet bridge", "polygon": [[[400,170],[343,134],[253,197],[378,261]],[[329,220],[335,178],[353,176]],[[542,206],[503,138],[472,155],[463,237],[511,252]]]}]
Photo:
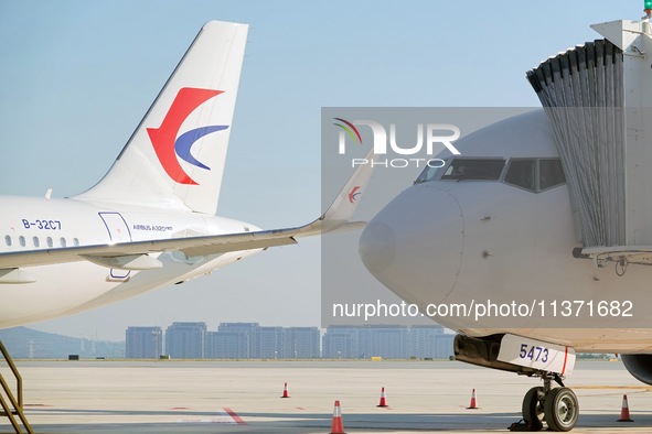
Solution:
[{"label": "white front fuselage of the plane docked at the jet bridge", "polygon": [[532,188],[510,175],[516,162],[538,167],[558,159],[543,111],[456,144],[462,155],[449,161],[482,167],[501,160],[500,176],[456,178],[450,163],[399,194],[361,236],[361,257],[376,279],[464,335],[509,333],[588,352],[649,351],[650,268],[629,265],[619,275],[613,262],[575,258],[581,243],[567,185],[542,188],[543,169]]}]

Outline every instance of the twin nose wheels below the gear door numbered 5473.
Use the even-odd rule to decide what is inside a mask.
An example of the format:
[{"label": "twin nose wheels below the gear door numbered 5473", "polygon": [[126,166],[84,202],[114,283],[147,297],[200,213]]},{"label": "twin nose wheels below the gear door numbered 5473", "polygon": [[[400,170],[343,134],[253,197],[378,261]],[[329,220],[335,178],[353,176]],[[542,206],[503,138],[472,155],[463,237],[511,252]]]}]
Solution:
[{"label": "twin nose wheels below the gear door numbered 5473", "polygon": [[[579,416],[579,403],[573,390],[556,373],[543,372],[543,387],[532,388],[523,399],[523,420],[531,431],[539,431],[544,422],[551,431],[573,430]],[[560,387],[552,389],[551,380]]]}]

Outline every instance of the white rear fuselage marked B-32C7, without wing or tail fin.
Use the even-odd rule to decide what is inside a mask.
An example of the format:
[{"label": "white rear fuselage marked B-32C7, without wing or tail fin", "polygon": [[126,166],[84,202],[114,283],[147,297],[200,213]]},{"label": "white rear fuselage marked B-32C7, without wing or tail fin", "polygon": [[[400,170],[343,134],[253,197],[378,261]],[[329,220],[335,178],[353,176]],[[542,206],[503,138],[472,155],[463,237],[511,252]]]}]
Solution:
[{"label": "white rear fuselage marked B-32C7, without wing or tail fin", "polygon": [[[0,251],[44,251],[76,246],[239,234],[257,227],[224,217],[174,210],[98,207],[75,199],[0,196]],[[186,257],[157,253],[163,267],[114,269],[90,261],[25,268],[29,282],[0,283],[0,328],[54,318],[183,282],[260,249]],[[114,253],[115,254],[115,253]]]}]

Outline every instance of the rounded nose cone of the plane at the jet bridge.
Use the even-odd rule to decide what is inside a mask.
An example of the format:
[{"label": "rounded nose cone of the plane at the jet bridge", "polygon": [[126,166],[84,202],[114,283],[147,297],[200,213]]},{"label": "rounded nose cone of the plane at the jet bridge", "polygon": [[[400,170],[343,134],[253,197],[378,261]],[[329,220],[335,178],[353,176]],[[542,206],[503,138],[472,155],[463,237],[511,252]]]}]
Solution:
[{"label": "rounded nose cone of the plane at the jet bridge", "polygon": [[416,185],[370,221],[359,249],[366,269],[398,296],[410,303],[439,303],[460,272],[462,211],[450,193]]}]

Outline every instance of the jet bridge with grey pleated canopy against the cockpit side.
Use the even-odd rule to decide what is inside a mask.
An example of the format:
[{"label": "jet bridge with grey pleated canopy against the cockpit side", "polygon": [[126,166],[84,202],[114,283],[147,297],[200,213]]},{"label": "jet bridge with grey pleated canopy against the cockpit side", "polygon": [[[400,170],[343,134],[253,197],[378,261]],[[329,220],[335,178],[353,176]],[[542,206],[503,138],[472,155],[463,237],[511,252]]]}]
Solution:
[{"label": "jet bridge with grey pleated canopy against the cockpit side", "polygon": [[527,73],[553,126],[584,249],[577,257],[652,264],[650,18],[591,26],[603,40]]}]

